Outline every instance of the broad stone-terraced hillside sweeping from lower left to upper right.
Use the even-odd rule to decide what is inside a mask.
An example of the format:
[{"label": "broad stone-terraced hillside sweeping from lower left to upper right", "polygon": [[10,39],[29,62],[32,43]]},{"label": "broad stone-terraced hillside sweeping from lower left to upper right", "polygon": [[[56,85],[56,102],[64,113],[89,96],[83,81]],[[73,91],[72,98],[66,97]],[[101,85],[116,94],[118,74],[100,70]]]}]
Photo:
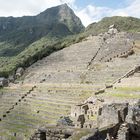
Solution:
[{"label": "broad stone-terraced hillside sweeping from lower left to upper right", "polygon": [[[56,124],[61,116],[70,114],[71,105],[94,95],[139,64],[139,49],[126,42],[125,35],[120,43],[117,37],[121,35],[112,38],[118,41],[117,46],[112,40],[104,42],[101,36],[93,36],[55,52],[29,67],[19,84],[0,91],[0,136],[28,139],[36,128]],[[122,58],[122,53],[131,49],[135,53]],[[102,54],[108,59],[102,57],[100,61]]]}]

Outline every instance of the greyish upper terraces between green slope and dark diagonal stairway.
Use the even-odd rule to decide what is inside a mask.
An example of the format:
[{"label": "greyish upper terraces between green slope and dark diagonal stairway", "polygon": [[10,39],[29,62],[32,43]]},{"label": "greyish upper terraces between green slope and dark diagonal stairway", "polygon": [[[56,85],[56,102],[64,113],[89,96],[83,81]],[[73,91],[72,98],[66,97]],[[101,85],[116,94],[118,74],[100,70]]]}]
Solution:
[{"label": "greyish upper terraces between green slope and dark diagonal stairway", "polygon": [[100,44],[99,37],[94,37],[51,54],[27,70],[25,82],[80,83],[81,73],[87,71]]}]

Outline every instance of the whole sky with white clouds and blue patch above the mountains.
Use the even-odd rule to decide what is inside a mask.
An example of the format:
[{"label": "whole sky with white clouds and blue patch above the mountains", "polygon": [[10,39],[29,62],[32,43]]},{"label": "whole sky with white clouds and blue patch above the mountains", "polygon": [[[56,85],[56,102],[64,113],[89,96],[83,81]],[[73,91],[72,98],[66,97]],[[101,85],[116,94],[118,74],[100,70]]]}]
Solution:
[{"label": "whole sky with white clouds and blue patch above the mountains", "polygon": [[0,0],[0,16],[37,15],[67,3],[85,26],[110,16],[140,18],[140,0]]}]

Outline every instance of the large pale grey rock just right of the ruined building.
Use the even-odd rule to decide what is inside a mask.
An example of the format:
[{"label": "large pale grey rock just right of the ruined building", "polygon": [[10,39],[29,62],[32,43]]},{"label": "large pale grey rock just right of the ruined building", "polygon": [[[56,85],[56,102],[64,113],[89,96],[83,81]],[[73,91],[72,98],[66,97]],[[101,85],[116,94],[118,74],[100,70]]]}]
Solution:
[{"label": "large pale grey rock just right of the ruined building", "polygon": [[99,109],[98,128],[109,128],[125,121],[127,112],[127,103],[104,105]]}]

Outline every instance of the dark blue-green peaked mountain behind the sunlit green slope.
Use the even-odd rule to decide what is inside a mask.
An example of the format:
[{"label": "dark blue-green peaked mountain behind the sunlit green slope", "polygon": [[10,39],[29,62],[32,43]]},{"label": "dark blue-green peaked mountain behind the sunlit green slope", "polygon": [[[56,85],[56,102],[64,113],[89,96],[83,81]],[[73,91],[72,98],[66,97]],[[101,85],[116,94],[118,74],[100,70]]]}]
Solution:
[{"label": "dark blue-green peaked mountain behind the sunlit green slope", "polygon": [[[63,38],[83,29],[80,19],[67,4],[48,8],[36,16],[1,17],[0,42],[8,42],[11,46],[2,47],[0,56],[16,55],[42,37]],[[16,51],[14,46],[18,47]]]}]

